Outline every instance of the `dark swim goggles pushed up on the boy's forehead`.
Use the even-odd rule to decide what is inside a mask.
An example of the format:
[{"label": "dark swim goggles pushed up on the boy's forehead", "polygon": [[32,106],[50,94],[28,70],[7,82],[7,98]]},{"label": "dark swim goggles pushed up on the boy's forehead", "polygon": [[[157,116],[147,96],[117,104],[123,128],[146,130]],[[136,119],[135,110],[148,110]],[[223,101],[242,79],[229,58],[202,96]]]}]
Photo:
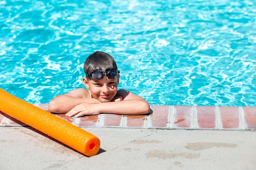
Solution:
[{"label": "dark swim goggles pushed up on the boy's forehead", "polygon": [[86,76],[91,77],[92,79],[102,79],[103,77],[107,76],[109,79],[113,79],[115,77],[117,77],[117,75],[120,73],[119,70],[117,69],[111,69],[108,71],[107,74],[104,74],[102,71],[96,70],[93,71],[91,74],[85,73]]}]

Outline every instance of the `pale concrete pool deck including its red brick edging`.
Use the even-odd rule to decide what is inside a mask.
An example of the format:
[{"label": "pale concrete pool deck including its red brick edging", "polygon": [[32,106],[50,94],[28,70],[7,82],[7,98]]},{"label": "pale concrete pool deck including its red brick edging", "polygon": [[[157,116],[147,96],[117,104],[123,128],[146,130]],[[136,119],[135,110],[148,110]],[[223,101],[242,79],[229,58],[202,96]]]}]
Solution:
[{"label": "pale concrete pool deck including its red brick edging", "polygon": [[256,107],[150,108],[139,116],[56,115],[99,137],[93,157],[0,112],[0,169],[255,170]]}]

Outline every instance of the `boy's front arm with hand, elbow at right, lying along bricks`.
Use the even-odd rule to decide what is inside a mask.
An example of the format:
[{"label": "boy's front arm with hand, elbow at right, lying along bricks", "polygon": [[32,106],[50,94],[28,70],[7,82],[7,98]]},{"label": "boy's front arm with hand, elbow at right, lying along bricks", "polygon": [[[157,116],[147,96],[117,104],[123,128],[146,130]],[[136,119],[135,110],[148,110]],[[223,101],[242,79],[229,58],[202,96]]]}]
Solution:
[{"label": "boy's front arm with hand, elbow at right, lying along bricks", "polygon": [[79,104],[66,115],[80,117],[83,115],[97,115],[99,113],[114,113],[121,115],[143,115],[150,112],[150,105],[142,97],[129,91],[119,90],[117,96],[123,100],[98,104]]}]

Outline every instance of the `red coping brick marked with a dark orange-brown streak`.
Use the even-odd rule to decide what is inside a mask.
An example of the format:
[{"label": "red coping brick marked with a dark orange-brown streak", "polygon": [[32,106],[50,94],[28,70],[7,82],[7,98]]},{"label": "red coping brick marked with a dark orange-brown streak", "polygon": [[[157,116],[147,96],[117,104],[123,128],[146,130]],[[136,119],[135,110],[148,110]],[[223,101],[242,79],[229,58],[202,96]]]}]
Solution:
[{"label": "red coping brick marked with a dark orange-brown streak", "polygon": [[193,128],[192,106],[173,106],[173,127]]}]

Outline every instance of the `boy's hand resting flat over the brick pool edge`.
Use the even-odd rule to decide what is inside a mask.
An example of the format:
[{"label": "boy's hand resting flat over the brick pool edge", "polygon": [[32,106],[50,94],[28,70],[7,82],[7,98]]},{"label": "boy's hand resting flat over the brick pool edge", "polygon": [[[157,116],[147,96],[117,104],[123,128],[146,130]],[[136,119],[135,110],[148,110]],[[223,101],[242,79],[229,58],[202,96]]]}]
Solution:
[{"label": "boy's hand resting flat over the brick pool edge", "polygon": [[80,117],[83,115],[99,115],[99,110],[97,110],[97,106],[95,104],[79,104],[72,108],[66,116],[68,117]]}]

